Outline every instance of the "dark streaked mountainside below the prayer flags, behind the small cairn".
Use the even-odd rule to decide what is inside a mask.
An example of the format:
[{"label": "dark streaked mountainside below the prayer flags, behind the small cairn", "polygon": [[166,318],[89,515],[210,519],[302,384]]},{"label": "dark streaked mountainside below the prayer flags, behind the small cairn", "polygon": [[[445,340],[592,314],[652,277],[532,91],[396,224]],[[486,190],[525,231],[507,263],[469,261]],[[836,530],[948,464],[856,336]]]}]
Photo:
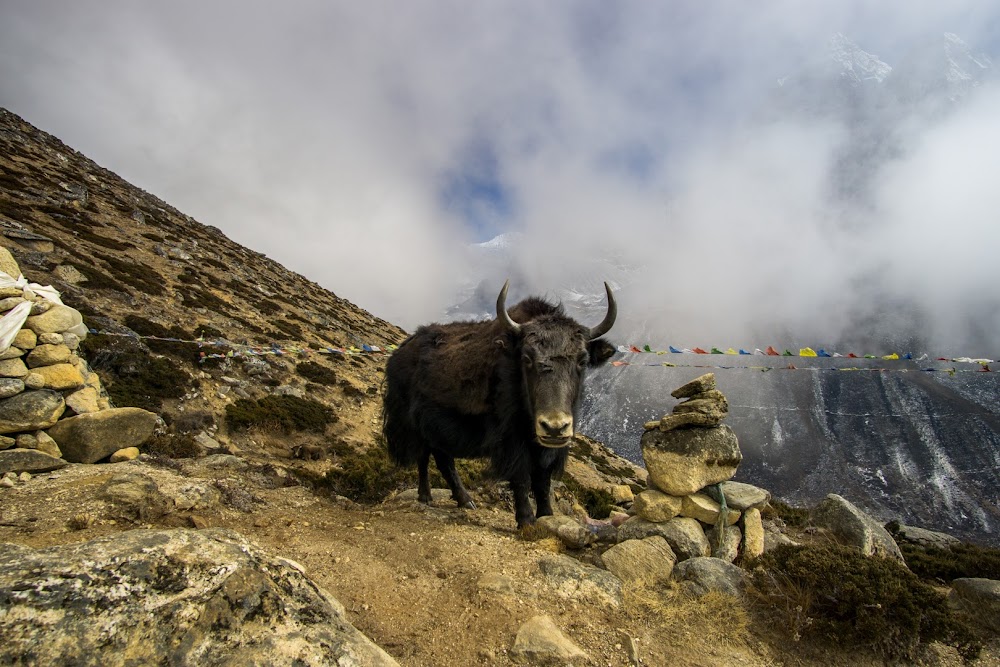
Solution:
[{"label": "dark streaked mountainside below the prayer flags, behind the small cairn", "polygon": [[[845,365],[808,362],[837,363]],[[945,365],[892,362],[888,373],[720,371],[727,423],[743,452],[736,479],[801,505],[837,493],[881,521],[1000,544],[1000,378],[920,372],[935,366]],[[601,369],[588,386],[581,430],[641,461],[643,423],[667,412],[669,388],[695,372]]]}]

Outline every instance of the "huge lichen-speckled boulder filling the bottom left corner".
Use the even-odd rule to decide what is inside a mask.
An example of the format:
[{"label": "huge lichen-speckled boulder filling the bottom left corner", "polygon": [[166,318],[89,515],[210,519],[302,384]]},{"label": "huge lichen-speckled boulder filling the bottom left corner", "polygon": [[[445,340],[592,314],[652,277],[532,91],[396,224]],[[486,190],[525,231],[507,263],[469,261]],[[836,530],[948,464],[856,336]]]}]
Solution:
[{"label": "huge lichen-speckled boulder filling the bottom left corner", "polygon": [[300,566],[228,530],[0,545],[0,590],[3,664],[397,665]]}]

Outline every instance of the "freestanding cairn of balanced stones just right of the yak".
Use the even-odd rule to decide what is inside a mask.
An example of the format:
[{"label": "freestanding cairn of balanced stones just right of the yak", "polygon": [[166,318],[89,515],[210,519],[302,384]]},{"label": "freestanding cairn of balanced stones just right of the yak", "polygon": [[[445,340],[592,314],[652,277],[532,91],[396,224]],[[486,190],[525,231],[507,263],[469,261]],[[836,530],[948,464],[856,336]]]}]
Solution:
[{"label": "freestanding cairn of balanced stones just right of the yak", "polygon": [[619,528],[619,541],[662,536],[677,561],[760,555],[760,510],[771,494],[729,481],[743,456],[736,434],[721,423],[729,404],[716,389],[715,374],[695,378],[671,396],[684,400],[672,414],[646,424],[642,455],[649,489],[636,496],[635,516]]}]

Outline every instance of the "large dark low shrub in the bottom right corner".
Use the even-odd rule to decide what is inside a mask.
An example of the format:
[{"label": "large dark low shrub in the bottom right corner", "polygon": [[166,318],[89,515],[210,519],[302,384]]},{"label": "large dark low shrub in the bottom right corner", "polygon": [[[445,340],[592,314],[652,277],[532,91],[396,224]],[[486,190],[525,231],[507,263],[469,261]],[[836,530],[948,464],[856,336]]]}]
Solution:
[{"label": "large dark low shrub in the bottom right corner", "polygon": [[904,565],[840,545],[783,545],[751,562],[750,592],[794,638],[913,659],[922,643],[955,646],[966,658],[980,647],[943,595]]}]

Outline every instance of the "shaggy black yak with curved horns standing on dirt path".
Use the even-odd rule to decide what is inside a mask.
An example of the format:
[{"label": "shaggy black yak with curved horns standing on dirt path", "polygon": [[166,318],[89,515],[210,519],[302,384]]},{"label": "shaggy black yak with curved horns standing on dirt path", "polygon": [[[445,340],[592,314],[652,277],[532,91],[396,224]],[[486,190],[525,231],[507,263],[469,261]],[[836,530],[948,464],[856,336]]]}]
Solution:
[{"label": "shaggy black yak with curved horns standing on dirt path", "polygon": [[496,319],[421,326],[389,357],[382,433],[396,463],[417,464],[424,503],[431,501],[431,456],[452,498],[470,509],[455,459],[489,458],[493,475],[510,483],[520,529],[552,514],[550,484],[566,464],[584,373],[614,354],[601,336],[618,307],[604,283],[607,314],[593,328],[539,297],[508,312],[509,283]]}]

